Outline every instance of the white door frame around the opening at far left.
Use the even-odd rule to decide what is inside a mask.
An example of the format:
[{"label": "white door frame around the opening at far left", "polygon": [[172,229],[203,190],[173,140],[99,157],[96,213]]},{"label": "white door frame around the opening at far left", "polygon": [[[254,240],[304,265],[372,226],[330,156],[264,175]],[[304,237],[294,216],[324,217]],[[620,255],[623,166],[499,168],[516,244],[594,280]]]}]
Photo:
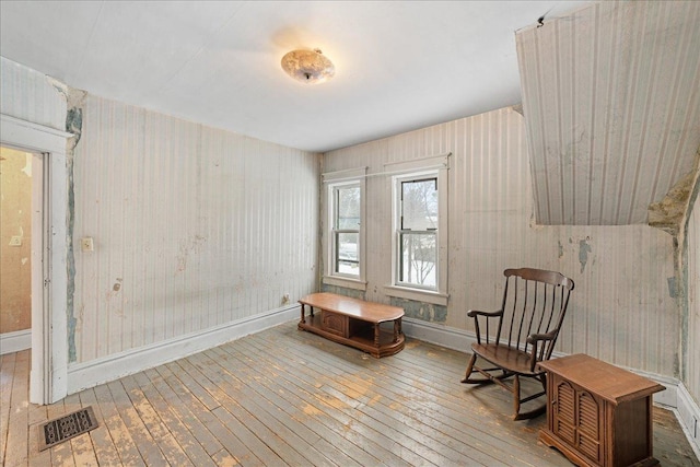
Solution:
[{"label": "white door frame around the opening at far left", "polygon": [[34,154],[30,373],[33,404],[51,404],[68,395],[68,245],[72,240],[68,238],[67,225],[66,148],[71,136],[0,114],[0,144]]}]

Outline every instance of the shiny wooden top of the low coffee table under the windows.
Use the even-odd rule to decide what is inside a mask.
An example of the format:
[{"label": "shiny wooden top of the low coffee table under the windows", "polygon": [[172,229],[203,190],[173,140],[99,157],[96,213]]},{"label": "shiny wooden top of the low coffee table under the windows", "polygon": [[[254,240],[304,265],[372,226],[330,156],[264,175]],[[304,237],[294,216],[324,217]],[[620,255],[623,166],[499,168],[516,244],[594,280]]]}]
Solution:
[{"label": "shiny wooden top of the low coffee table under the windows", "polygon": [[404,308],[398,306],[365,302],[349,296],[336,295],[335,293],[312,293],[301,299],[299,303],[357,317],[370,323],[390,322],[404,316]]}]

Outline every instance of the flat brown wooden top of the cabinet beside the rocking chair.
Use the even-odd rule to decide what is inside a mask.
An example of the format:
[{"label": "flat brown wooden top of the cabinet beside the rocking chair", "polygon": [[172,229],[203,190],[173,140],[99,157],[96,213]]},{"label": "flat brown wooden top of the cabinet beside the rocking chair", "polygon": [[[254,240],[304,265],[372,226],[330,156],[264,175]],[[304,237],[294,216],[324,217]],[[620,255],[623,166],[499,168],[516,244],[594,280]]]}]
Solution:
[{"label": "flat brown wooden top of the cabinet beside the rocking chair", "polygon": [[616,405],[665,389],[651,380],[583,353],[548,360],[539,366]]}]

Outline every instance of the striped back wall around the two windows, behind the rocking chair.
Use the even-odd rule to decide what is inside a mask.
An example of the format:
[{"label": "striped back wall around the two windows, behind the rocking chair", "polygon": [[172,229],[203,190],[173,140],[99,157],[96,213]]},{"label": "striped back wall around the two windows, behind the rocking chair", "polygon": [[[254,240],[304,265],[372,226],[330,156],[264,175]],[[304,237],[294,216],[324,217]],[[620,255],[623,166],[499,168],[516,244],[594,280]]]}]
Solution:
[{"label": "striped back wall around the two windows, behind the rocking chair", "polygon": [[[504,108],[329,152],[324,172],[452,152],[450,302],[443,324],[471,330],[466,310],[494,310],[502,271],[553,269],[575,282],[558,350],[675,375],[678,312],[669,292],[672,237],[648,225],[541,226],[533,221],[533,187],[523,117]],[[368,300],[388,302],[390,189],[368,178]],[[466,349],[465,349],[466,350]]]}]

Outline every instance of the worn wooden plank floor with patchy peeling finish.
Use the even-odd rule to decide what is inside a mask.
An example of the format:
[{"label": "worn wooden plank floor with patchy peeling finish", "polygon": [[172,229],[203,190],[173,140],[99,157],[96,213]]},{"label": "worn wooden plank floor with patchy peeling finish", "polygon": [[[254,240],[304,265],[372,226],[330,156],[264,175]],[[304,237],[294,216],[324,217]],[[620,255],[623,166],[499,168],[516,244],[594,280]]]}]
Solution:
[{"label": "worn wooden plank floor with patchy peeling finish", "polygon": [[[30,351],[3,355],[3,466],[569,466],[514,422],[509,394],[459,383],[464,353],[407,340],[376,360],[284,324],[71,395],[27,402]],[[92,406],[100,428],[38,452],[37,424]],[[654,413],[664,466],[700,466]]]}]

